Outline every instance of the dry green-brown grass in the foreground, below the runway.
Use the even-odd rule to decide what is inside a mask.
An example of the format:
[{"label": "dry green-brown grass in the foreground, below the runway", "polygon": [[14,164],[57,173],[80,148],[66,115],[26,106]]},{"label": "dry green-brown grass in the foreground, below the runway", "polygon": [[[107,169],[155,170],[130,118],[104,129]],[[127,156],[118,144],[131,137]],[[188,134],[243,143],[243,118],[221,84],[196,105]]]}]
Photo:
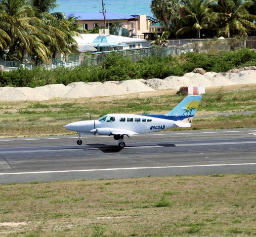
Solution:
[{"label": "dry green-brown grass in the foreground, below the runway", "polygon": [[0,236],[255,236],[255,184],[256,174],[2,184]]}]

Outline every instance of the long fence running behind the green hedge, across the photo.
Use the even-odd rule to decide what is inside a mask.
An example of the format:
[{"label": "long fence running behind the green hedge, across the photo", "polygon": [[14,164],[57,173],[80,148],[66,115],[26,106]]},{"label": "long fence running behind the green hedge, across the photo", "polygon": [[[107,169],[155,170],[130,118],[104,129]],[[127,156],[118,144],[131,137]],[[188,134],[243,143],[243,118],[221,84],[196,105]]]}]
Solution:
[{"label": "long fence running behind the green hedge, across the photo", "polygon": [[[117,53],[121,53],[126,57],[129,57],[133,61],[138,61],[143,58],[167,56],[167,55],[180,55],[186,52],[215,52],[221,50],[237,50],[241,48],[249,48],[256,50],[256,38],[252,37],[246,40],[238,39],[189,39],[189,40],[169,40],[168,47],[145,47],[140,49],[128,49],[118,50]],[[71,55],[65,58],[54,58],[49,63],[43,63],[40,67],[52,70],[57,67],[72,68],[78,65],[102,65],[109,52],[96,52],[92,54],[86,54],[82,60],[79,55]],[[4,66],[4,71],[11,71],[18,69],[19,67],[32,69],[33,64],[24,62],[19,64],[17,61],[2,61],[0,65]]]}]

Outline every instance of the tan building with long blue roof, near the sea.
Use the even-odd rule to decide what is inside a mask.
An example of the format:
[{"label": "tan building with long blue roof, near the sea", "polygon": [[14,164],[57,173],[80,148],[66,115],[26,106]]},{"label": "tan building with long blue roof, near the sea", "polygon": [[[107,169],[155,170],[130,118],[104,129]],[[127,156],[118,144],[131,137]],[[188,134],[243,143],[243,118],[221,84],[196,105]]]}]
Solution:
[{"label": "tan building with long blue roof, near the sea", "polygon": [[[73,15],[78,17],[78,22],[86,30],[95,27],[104,27],[104,19],[102,12],[66,12],[67,16]],[[117,12],[106,12],[106,27],[111,26],[115,22],[120,22],[124,28],[128,29],[128,36],[144,39],[143,33],[149,31],[149,26],[158,21],[147,15],[126,15]]]}]

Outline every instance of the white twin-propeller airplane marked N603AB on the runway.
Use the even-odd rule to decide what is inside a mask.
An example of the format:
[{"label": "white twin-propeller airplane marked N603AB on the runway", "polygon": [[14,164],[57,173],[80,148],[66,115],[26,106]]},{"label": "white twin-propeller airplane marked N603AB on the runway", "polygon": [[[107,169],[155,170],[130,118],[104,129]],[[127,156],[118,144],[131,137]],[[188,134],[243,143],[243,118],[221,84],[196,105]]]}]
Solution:
[{"label": "white twin-propeller airplane marked N603AB on the runway", "polygon": [[190,127],[201,99],[201,95],[188,95],[165,115],[107,114],[97,120],[72,122],[64,128],[79,132],[78,145],[82,145],[81,135],[98,134],[113,136],[123,149],[126,146],[124,136]]}]

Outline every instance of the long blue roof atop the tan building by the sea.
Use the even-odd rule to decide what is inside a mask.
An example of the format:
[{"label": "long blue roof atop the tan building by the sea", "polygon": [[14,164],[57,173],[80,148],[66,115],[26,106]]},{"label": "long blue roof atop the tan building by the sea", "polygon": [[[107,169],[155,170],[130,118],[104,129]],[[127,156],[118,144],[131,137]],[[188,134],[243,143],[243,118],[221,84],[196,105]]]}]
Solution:
[{"label": "long blue roof atop the tan building by the sea", "polygon": [[[79,20],[103,20],[103,13],[101,12],[65,12],[66,16],[79,17]],[[124,20],[134,19],[131,15],[121,14],[118,12],[107,11],[105,13],[106,20]]]}]

